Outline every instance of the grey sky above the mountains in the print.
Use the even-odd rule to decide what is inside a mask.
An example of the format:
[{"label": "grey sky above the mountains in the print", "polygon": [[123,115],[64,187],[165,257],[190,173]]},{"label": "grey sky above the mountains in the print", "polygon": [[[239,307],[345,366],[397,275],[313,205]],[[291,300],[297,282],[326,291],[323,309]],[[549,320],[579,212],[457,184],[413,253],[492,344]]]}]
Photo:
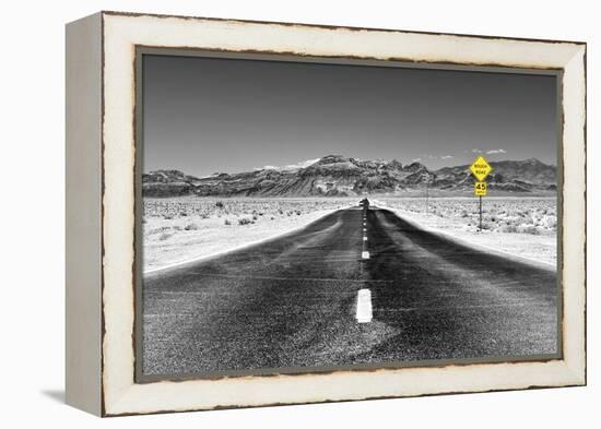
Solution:
[{"label": "grey sky above the mountains in the print", "polygon": [[554,76],[144,56],[144,170],[195,176],[330,154],[428,168],[556,164]]}]

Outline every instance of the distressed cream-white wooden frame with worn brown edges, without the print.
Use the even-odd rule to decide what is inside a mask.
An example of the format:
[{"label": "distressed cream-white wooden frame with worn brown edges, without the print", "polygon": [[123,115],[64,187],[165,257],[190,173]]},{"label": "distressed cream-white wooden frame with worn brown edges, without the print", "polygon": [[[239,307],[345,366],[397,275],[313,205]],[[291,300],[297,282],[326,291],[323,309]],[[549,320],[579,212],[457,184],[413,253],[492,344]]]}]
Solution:
[{"label": "distressed cream-white wooden frame with worn brown edges, without the print", "polygon": [[[563,359],[134,382],[135,46],[563,70]],[[115,416],[586,383],[586,45],[101,12],[67,27],[67,402]]]}]

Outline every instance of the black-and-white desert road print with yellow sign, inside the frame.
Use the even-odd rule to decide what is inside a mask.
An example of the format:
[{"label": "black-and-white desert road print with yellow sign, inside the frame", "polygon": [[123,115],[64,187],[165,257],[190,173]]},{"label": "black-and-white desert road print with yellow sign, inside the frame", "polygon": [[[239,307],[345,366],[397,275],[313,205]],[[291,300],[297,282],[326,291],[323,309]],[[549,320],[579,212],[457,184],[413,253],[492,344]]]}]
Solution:
[{"label": "black-and-white desert road print with yellow sign, inside the frame", "polygon": [[556,74],[140,72],[142,379],[561,356]]}]

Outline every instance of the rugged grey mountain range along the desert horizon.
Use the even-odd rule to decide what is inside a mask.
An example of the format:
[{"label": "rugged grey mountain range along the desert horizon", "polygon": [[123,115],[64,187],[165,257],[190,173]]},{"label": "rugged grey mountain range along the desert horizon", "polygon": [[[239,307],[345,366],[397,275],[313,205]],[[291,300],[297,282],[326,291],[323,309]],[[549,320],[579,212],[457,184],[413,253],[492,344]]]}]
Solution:
[{"label": "rugged grey mountain range along the desert horizon", "polygon": [[[557,189],[557,168],[535,158],[490,163],[491,194],[551,194]],[[363,160],[328,155],[293,168],[266,167],[246,172],[215,172],[198,178],[179,170],[142,175],[144,196],[354,196],[406,194],[426,186],[443,194],[473,192],[469,165],[428,170],[423,164]]]}]

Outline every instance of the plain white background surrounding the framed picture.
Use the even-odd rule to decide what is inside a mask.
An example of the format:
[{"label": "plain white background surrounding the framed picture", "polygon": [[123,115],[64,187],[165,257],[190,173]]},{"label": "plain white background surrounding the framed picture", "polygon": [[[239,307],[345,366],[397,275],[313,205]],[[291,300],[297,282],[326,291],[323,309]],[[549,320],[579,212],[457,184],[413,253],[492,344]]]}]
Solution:
[{"label": "plain white background surrounding the framed picture", "polygon": [[[593,1],[11,1],[0,13],[0,426],[592,427],[599,422],[601,26]],[[99,420],[62,404],[63,25],[98,10],[588,41],[589,386]],[[594,266],[597,265],[597,266]],[[27,425],[30,426],[30,425]]]}]

